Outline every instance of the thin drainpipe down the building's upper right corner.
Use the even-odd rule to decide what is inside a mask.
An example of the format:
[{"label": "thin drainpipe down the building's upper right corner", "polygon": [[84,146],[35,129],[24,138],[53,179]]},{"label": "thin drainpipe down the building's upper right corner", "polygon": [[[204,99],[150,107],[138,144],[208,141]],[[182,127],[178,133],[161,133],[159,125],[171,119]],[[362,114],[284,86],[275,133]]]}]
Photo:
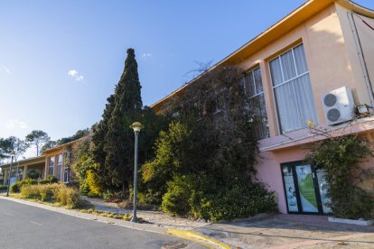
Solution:
[{"label": "thin drainpipe down the building's upper right corner", "polygon": [[369,93],[370,106],[374,107],[373,88],[371,87],[368,66],[366,64],[365,57],[364,57],[364,54],[363,54],[363,51],[362,51],[360,36],[359,36],[359,32],[357,31],[356,23],[354,22],[353,14],[354,13],[350,11],[350,12],[347,13],[347,17],[348,17],[348,20],[350,21],[351,32],[353,33],[354,42],[356,43],[356,50],[357,50],[359,58],[360,58],[360,64],[361,64],[362,73],[363,73],[363,76],[364,76],[364,79],[365,79],[365,85],[366,85],[366,88],[367,88],[368,93]]}]

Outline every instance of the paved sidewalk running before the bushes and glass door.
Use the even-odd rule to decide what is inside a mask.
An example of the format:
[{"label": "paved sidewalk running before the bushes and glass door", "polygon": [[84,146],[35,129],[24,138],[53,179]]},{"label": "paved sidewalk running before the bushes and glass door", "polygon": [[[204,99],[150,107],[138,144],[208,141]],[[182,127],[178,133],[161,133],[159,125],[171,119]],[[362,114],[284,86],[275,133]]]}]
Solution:
[{"label": "paved sidewalk running before the bushes and glass door", "polygon": [[[85,198],[96,209],[118,213],[117,208],[98,198]],[[160,211],[138,211],[138,217],[153,226],[192,230],[232,248],[374,248],[374,226],[330,223],[327,217],[303,215],[260,215],[228,223],[206,223],[171,217]]]}]

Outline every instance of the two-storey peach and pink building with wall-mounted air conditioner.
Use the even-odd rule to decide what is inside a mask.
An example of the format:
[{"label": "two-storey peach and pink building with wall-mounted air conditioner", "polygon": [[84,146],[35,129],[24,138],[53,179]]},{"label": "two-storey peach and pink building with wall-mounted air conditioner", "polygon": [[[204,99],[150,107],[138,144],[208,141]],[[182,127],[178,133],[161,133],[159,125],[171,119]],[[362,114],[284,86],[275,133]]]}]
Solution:
[{"label": "two-storey peach and pink building with wall-mounted air conditioner", "polygon": [[[247,96],[261,103],[257,178],[276,192],[280,212],[329,213],[323,170],[302,163],[308,144],[323,139],[308,122],[373,140],[373,109],[361,118],[353,109],[374,106],[374,11],[349,0],[309,0],[216,66],[225,65],[243,70]],[[163,113],[193,83],[152,107]],[[374,172],[373,159],[362,167]],[[374,194],[373,180],[360,187]]]}]

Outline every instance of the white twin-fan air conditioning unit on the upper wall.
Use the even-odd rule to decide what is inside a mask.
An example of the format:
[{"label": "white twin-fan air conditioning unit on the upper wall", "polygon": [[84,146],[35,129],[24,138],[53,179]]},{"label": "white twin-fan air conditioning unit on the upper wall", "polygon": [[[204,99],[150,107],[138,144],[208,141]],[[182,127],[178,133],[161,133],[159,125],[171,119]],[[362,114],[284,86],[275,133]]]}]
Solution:
[{"label": "white twin-fan air conditioning unit on the upper wall", "polygon": [[327,124],[341,124],[352,119],[354,101],[351,88],[342,87],[323,94],[322,101]]}]

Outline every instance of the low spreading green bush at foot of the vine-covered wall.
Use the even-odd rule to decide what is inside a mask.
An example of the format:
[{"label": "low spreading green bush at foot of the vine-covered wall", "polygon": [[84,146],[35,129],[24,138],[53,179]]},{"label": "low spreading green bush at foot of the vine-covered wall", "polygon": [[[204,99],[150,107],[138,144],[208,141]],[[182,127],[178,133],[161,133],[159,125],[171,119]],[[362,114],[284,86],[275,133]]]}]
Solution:
[{"label": "low spreading green bush at foot of the vine-covered wall", "polygon": [[254,182],[217,186],[213,178],[188,175],[168,182],[163,198],[165,212],[208,220],[229,220],[276,212],[273,193]]}]

